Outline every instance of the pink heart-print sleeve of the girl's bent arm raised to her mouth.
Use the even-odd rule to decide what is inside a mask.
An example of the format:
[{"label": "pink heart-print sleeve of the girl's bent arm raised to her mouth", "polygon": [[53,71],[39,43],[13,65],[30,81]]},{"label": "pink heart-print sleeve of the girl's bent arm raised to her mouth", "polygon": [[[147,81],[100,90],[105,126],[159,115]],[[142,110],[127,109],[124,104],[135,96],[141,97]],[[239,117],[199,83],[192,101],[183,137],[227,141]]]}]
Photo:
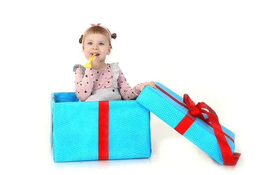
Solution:
[{"label": "pink heart-print sleeve of the girl's bent arm raised to her mouth", "polygon": [[84,72],[84,77],[82,76],[81,69],[76,69],[75,75],[75,87],[76,87],[76,96],[82,102],[84,102],[93,91],[93,85],[95,81],[97,70],[87,68]]}]

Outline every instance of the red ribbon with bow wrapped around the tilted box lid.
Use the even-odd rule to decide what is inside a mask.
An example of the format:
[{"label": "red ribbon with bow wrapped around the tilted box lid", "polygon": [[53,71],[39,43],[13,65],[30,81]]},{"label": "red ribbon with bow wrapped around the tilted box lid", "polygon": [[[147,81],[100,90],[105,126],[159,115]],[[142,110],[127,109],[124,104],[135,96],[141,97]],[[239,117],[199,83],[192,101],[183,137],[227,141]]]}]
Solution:
[{"label": "red ribbon with bow wrapped around the tilted box lid", "polygon": [[[165,93],[167,96],[175,100],[175,102],[182,105],[188,110],[186,116],[174,128],[175,130],[177,130],[177,132],[183,135],[186,132],[186,130],[194,123],[195,118],[196,117],[200,118],[201,120],[203,120],[205,123],[209,124],[209,126],[213,128],[214,134],[217,138],[217,141],[221,150],[223,164],[236,165],[241,153],[234,152],[234,154],[232,154],[230,146],[227,143],[227,140],[225,138],[225,135],[228,138],[230,138],[230,136],[228,136],[226,133],[222,131],[221,125],[218,122],[218,116],[215,113],[215,111],[212,110],[211,107],[209,107],[204,102],[198,102],[198,104],[195,105],[195,103],[189,98],[187,94],[184,94],[184,97],[183,97],[183,102],[186,104],[184,105],[183,103],[179,102],[177,99],[175,99],[173,96],[171,96],[169,93],[167,93],[165,90],[163,90],[159,86],[156,85],[156,87],[160,89],[163,93]],[[209,112],[204,109],[209,110]],[[204,118],[203,113],[205,113],[208,116],[207,119]],[[211,124],[209,123],[209,121],[211,122]],[[233,141],[232,138],[230,139]]]}]

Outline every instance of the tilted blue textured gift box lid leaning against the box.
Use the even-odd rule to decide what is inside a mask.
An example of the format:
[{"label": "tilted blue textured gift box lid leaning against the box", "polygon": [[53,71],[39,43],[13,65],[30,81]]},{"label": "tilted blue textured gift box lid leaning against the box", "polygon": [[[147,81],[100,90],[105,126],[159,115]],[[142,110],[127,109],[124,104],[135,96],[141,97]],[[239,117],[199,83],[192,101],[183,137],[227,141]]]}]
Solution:
[{"label": "tilted blue textured gift box lid leaning against the box", "polygon": [[[166,124],[176,129],[177,125],[180,124],[180,121],[188,113],[188,109],[177,103],[174,99],[170,98],[170,96],[168,96],[166,93],[174,97],[178,102],[184,105],[186,104],[183,102],[183,98],[174,93],[172,90],[166,88],[159,82],[155,82],[155,84],[159,88],[152,88],[149,85],[146,86],[136,101],[166,122]],[[203,113],[203,115],[204,118],[207,118],[206,114]],[[230,147],[233,154],[235,149],[235,144],[233,142],[235,140],[235,134],[222,125],[221,128],[222,131],[228,135],[228,137],[225,135],[224,138],[227,140],[227,147]],[[191,126],[188,127],[188,129],[184,131],[182,135],[210,155],[219,164],[224,164],[221,149],[216,139],[214,130],[202,119],[196,117],[195,121],[193,121]],[[236,159],[236,162],[238,161],[240,153],[236,153],[236,155],[233,154],[233,156],[234,160]]]}]

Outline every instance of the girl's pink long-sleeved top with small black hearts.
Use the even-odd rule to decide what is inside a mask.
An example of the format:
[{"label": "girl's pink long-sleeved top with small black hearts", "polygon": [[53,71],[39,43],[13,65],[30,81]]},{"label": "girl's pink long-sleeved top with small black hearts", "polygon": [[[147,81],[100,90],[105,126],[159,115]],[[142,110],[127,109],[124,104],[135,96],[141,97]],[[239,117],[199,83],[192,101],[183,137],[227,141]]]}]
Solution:
[{"label": "girl's pink long-sleeved top with small black hearts", "polygon": [[[85,101],[93,90],[112,88],[112,71],[110,64],[106,68],[99,70],[93,68],[86,68],[84,77],[82,77],[80,68],[76,69],[75,75],[75,87],[76,87],[76,96],[81,101]],[[117,88],[121,96],[125,100],[136,99],[140,94],[140,84],[131,88],[126,82],[125,76],[119,69],[119,77],[117,79]]]}]

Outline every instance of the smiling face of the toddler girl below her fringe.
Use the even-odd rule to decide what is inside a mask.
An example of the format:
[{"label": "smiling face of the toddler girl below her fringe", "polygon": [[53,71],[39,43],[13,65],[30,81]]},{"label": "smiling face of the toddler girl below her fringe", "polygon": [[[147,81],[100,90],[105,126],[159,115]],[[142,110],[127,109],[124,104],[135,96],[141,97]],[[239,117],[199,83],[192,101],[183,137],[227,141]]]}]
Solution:
[{"label": "smiling face of the toddler girl below her fringe", "polygon": [[111,52],[109,38],[102,34],[89,34],[84,38],[84,56],[90,59],[96,54],[100,62],[105,62]]}]

